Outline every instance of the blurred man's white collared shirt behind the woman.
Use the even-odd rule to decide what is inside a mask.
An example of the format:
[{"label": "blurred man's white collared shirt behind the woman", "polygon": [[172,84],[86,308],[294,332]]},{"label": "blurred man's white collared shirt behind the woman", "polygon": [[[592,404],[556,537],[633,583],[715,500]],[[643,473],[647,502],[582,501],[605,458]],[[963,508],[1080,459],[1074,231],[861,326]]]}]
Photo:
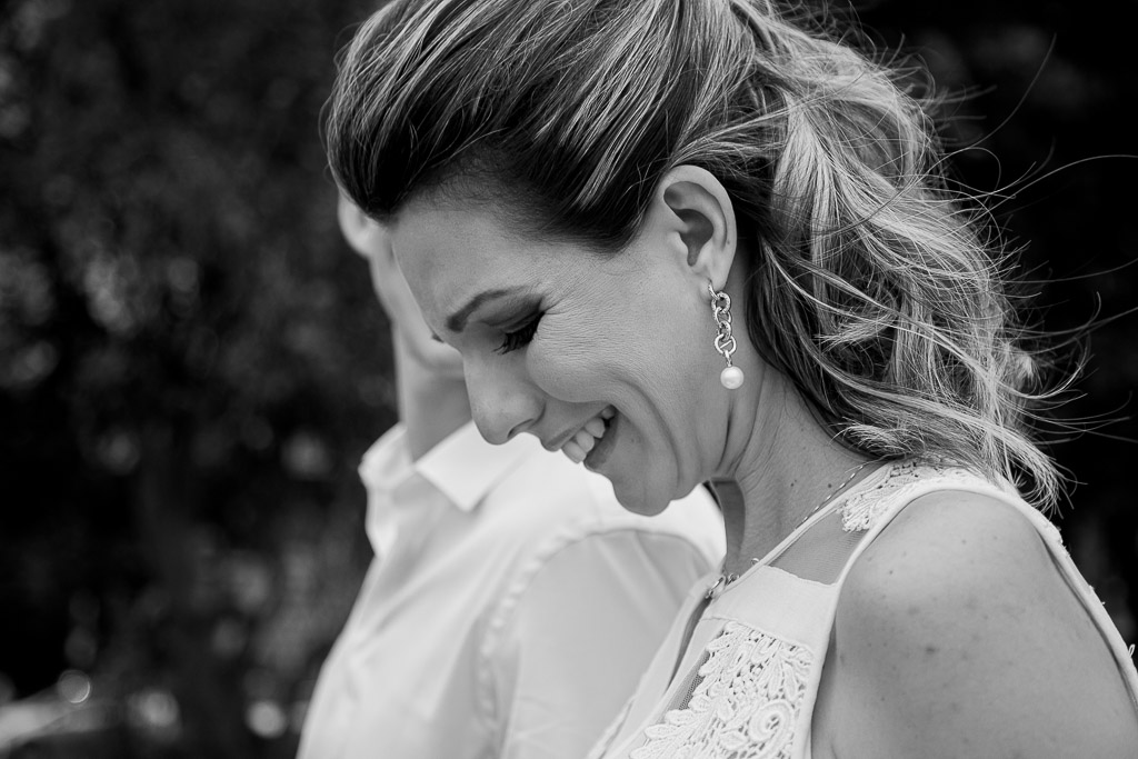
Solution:
[{"label": "blurred man's white collared shirt behind the woman", "polygon": [[467,424],[412,462],[396,427],[360,475],[376,560],[300,759],[580,759],[723,558],[702,488],[637,517],[531,436]]}]

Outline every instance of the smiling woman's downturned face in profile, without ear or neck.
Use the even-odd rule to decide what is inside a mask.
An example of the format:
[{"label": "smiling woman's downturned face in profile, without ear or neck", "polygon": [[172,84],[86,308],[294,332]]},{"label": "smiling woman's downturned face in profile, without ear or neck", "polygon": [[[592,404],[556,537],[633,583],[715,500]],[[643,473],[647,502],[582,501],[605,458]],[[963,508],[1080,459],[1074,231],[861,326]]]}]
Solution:
[{"label": "smiling woman's downturned face in profile, without ear or neck", "polygon": [[486,439],[529,432],[584,454],[638,513],[659,512],[719,465],[721,358],[707,279],[678,237],[649,224],[625,251],[599,255],[428,199],[389,232],[427,323],[462,354]]}]

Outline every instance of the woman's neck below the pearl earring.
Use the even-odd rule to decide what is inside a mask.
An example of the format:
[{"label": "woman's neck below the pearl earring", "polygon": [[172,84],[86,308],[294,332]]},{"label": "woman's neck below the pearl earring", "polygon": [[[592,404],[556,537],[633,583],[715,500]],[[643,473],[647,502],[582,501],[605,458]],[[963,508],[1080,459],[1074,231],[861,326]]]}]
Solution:
[{"label": "woman's neck below the pearl earring", "polygon": [[737,575],[869,469],[857,470],[867,459],[834,440],[782,373],[766,368],[758,374],[762,387],[752,397],[762,403],[732,424],[734,464],[712,480],[727,531],[725,571]]}]

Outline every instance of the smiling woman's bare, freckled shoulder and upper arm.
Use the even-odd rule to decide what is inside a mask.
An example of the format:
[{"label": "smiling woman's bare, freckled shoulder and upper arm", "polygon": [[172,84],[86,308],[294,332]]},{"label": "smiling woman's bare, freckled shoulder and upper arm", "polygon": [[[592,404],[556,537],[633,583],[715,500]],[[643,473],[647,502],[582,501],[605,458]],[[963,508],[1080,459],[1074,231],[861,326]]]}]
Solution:
[{"label": "smiling woman's bare, freckled shoulder and upper arm", "polygon": [[831,737],[842,756],[1129,757],[1138,716],[1108,647],[1013,506],[910,504],[839,602]]}]

